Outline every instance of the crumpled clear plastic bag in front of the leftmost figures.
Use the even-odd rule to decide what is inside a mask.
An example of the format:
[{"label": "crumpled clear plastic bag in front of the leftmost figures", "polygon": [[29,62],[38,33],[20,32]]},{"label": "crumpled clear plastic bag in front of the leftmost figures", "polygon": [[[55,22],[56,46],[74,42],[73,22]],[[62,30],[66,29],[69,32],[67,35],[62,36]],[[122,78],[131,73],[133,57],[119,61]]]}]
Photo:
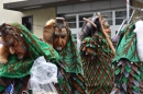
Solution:
[{"label": "crumpled clear plastic bag in front of the leftmost figures", "polygon": [[33,94],[57,94],[54,83],[57,83],[57,67],[46,62],[44,57],[37,58],[31,69],[29,87]]}]

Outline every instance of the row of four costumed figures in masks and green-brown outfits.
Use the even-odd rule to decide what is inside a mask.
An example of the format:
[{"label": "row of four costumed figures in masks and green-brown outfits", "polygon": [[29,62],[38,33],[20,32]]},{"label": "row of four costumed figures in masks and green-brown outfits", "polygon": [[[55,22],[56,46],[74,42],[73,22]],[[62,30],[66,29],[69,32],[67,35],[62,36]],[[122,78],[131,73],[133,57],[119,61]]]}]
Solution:
[{"label": "row of four costumed figures in masks and green-brown outfits", "polygon": [[[142,94],[142,49],[138,49],[139,35],[133,32],[142,30],[139,21],[111,39],[107,19],[97,14],[84,20],[79,51],[64,17],[47,21],[42,39],[20,23],[1,24],[0,94],[33,94],[34,87],[38,89],[36,94]],[[37,81],[40,86],[31,89],[31,78],[36,81],[55,75],[52,67],[42,71],[43,77],[31,72],[33,66],[40,66],[34,62],[41,56],[56,64],[57,82]],[[55,91],[44,91],[47,89]]]}]

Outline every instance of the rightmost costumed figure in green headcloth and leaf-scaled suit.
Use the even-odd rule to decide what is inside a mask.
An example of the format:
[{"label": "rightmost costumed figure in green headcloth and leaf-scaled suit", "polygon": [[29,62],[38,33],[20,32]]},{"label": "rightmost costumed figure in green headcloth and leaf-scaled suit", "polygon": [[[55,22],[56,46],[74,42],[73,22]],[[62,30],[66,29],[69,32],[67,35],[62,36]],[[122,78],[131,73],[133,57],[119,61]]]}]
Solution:
[{"label": "rightmost costumed figure in green headcloth and leaf-scaled suit", "polygon": [[119,35],[111,94],[143,94],[143,21],[130,23]]}]

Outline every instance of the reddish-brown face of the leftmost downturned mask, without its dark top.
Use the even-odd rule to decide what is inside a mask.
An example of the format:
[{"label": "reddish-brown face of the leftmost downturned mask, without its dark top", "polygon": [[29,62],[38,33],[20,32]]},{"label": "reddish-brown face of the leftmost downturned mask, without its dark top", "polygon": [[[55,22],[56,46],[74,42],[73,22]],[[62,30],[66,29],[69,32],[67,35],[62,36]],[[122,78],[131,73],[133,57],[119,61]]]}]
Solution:
[{"label": "reddish-brown face of the leftmost downturned mask, without its dark top", "polygon": [[[13,34],[14,31],[10,30],[9,33]],[[8,34],[4,38],[6,45],[9,47],[10,54],[15,54],[19,59],[22,59],[25,56],[26,47],[21,40],[18,40],[13,35]]]}]

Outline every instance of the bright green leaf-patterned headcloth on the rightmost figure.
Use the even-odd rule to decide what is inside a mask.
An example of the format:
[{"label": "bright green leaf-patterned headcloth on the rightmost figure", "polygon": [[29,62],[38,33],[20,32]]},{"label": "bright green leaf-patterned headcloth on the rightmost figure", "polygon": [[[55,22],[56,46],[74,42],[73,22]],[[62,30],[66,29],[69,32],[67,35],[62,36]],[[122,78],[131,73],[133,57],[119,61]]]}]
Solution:
[{"label": "bright green leaf-patterned headcloth on the rightmost figure", "polygon": [[136,35],[133,33],[135,24],[131,23],[120,34],[120,39],[117,45],[117,55],[113,61],[120,58],[127,58],[130,61],[138,62],[139,57],[136,52]]}]

